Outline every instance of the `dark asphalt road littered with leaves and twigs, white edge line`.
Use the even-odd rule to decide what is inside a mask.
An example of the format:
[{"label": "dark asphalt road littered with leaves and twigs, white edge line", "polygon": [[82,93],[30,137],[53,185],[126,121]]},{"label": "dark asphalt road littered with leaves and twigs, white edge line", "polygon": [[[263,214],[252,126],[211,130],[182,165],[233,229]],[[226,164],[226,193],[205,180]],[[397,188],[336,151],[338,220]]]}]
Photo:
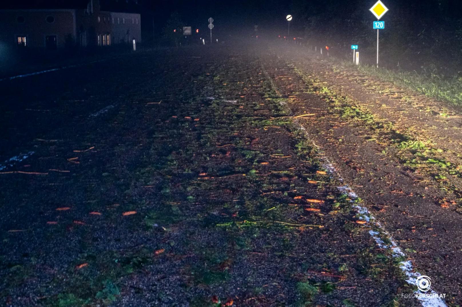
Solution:
[{"label": "dark asphalt road littered with leaves and twigs, white edge line", "polygon": [[459,306],[460,108],[316,49],[0,81],[2,306]]}]

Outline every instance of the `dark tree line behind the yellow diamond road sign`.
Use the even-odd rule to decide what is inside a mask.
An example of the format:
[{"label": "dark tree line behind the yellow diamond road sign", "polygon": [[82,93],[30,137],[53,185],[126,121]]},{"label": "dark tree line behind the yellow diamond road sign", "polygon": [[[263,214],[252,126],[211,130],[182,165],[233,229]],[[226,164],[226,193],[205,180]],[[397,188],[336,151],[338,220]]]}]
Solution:
[{"label": "dark tree line behind the yellow diamond road sign", "polygon": [[[319,45],[349,54],[358,44],[371,63],[375,59],[377,32],[369,8],[375,0],[293,0],[298,30]],[[462,70],[461,0],[383,0],[390,11],[381,19],[382,62],[388,67],[454,74]]]}]

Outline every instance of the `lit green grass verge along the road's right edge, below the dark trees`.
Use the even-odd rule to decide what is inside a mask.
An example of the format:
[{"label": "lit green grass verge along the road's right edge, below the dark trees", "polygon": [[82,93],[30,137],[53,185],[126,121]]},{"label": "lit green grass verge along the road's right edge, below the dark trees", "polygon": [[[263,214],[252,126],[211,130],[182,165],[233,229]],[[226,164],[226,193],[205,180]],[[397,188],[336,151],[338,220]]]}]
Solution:
[{"label": "lit green grass verge along the road's right edge, below the dark trees", "polygon": [[[355,68],[361,73],[379,78],[382,81],[391,82],[411,90],[416,90],[425,96],[436,98],[450,104],[462,105],[462,77],[447,77],[433,72],[418,73],[394,71],[386,68],[378,68],[371,65],[353,65],[347,60],[333,59],[342,66]],[[447,114],[441,114],[447,116]]]}]

